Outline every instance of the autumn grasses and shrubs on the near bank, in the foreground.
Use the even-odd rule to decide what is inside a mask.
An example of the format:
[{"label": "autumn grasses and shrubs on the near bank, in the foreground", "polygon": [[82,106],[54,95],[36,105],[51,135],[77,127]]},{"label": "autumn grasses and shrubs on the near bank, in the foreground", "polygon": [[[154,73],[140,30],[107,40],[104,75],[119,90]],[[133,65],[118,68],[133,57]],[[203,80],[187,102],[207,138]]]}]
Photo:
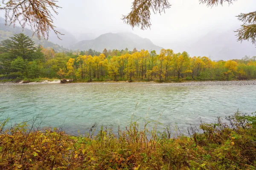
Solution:
[{"label": "autumn grasses and shrubs on the near bank, in the foreground", "polygon": [[136,121],[122,131],[111,128],[86,136],[70,136],[61,129],[40,130],[32,120],[0,128],[0,169],[230,169],[256,168],[256,116],[235,113],[200,128],[188,128],[189,136],[140,129]]}]

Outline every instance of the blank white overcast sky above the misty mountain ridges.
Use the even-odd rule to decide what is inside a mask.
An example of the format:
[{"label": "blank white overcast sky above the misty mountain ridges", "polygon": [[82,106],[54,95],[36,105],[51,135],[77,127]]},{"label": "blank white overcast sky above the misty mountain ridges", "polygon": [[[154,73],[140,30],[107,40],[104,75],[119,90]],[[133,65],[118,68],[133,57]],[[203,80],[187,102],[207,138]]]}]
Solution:
[{"label": "blank white overcast sky above the misty mountain ridges", "polygon": [[72,34],[90,33],[96,36],[108,32],[130,31],[149,38],[156,45],[170,40],[184,41],[207,34],[239,28],[236,15],[256,10],[256,0],[238,0],[228,6],[207,8],[198,0],[169,0],[172,7],[166,13],[152,14],[151,29],[140,30],[124,24],[122,14],[128,14],[132,0],[59,0],[55,25]]}]

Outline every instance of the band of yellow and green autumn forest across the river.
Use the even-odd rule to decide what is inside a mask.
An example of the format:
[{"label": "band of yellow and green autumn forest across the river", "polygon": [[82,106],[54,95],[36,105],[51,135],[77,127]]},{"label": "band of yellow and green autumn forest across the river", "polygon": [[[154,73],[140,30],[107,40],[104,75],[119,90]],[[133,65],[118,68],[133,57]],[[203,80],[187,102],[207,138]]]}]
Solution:
[{"label": "band of yellow and green autumn forest across the river", "polygon": [[77,82],[255,79],[256,56],[214,61],[171,49],[162,49],[160,54],[136,48],[55,52],[52,48],[35,46],[22,33],[0,42],[0,80],[41,78]]}]

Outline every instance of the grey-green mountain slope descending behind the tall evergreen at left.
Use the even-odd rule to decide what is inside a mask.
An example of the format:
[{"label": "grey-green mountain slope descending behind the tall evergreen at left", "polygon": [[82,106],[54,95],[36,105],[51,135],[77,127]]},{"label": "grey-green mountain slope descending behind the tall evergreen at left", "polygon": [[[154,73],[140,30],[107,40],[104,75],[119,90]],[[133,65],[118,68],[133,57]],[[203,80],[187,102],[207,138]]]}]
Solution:
[{"label": "grey-green mountain slope descending behind the tall evergreen at left", "polygon": [[9,39],[9,37],[12,37],[13,34],[19,33],[23,33],[29,36],[35,42],[35,45],[41,44],[44,48],[52,47],[56,52],[68,51],[68,49],[63,48],[60,45],[50,42],[48,40],[44,40],[43,38],[41,40],[38,40],[37,35],[34,35],[32,37],[33,32],[27,28],[22,29],[18,26],[5,26],[4,19],[0,17],[0,41]]}]

